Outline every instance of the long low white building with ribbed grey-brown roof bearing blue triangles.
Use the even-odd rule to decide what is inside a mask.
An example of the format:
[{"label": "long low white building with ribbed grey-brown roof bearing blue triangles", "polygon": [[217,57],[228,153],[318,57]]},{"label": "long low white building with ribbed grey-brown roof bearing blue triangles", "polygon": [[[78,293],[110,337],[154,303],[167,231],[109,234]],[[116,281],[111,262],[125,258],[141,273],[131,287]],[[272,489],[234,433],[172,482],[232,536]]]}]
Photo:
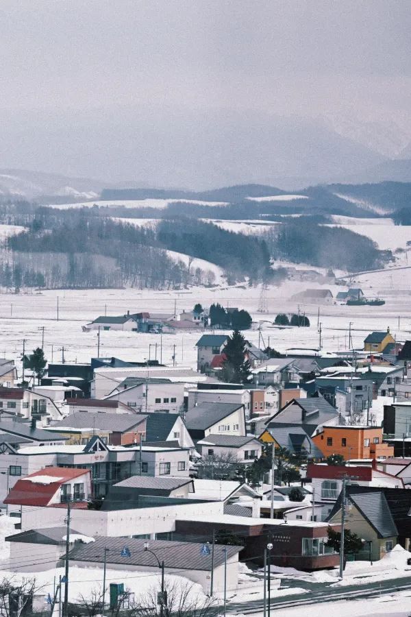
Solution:
[{"label": "long low white building with ribbed grey-brown roof bearing blue triangles", "polygon": [[[90,568],[103,564],[110,570],[127,569],[133,572],[148,572],[158,574],[158,564],[164,563],[165,574],[177,574],[193,583],[199,583],[205,593],[210,593],[210,572],[214,580],[214,591],[223,589],[235,591],[238,585],[238,553],[241,546],[214,546],[214,555],[209,550],[202,551],[203,543],[172,542],[151,540],[149,551],[145,551],[145,540],[121,537],[97,537],[90,544],[78,544],[69,553],[71,566]],[[127,546],[127,556],[124,547]],[[105,549],[108,549],[105,551]],[[85,572],[84,576],[87,574]]]}]

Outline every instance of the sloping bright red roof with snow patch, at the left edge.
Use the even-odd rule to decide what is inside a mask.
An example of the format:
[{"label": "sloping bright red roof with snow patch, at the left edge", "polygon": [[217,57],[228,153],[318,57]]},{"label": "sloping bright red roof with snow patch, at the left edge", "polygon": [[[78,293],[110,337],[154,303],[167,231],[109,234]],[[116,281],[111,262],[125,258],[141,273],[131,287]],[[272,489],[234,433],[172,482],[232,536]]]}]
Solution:
[{"label": "sloping bright red roof with snow patch, at the left edge", "polygon": [[47,467],[18,480],[3,500],[6,504],[47,506],[62,484],[89,474],[87,469]]}]

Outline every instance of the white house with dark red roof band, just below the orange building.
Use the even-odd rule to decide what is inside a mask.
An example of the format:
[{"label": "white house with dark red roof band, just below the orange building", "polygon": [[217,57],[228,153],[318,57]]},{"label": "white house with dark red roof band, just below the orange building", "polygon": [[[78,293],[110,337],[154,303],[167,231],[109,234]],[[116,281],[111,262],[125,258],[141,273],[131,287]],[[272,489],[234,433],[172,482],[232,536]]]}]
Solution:
[{"label": "white house with dark red roof band, just below the orange building", "polygon": [[343,487],[343,478],[351,485],[403,489],[402,479],[379,470],[376,461],[364,465],[315,465],[308,463],[306,478],[311,480],[312,495],[321,504],[321,520],[326,520]]}]

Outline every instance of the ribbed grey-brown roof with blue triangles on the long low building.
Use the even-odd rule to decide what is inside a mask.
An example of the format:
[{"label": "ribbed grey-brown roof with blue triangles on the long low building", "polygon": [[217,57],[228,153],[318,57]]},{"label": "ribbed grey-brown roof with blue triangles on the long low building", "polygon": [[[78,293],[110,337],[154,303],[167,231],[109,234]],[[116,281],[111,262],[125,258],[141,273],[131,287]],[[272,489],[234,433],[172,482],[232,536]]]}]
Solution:
[{"label": "ribbed grey-brown roof with blue triangles on the long low building", "polygon": [[[92,564],[103,564],[104,549],[108,548],[107,563],[121,564],[125,566],[146,566],[158,568],[158,561],[154,555],[144,550],[147,540],[137,540],[129,537],[97,537],[95,542],[76,546],[69,553],[69,559],[76,561],[88,561]],[[178,570],[211,570],[212,555],[203,555],[199,542],[171,542],[166,540],[150,540],[149,549],[157,555],[160,563],[164,561],[166,569]],[[128,548],[129,557],[122,557],[124,548]],[[224,563],[224,551],[227,549],[227,559],[234,557],[242,546],[223,546],[216,544],[214,547],[214,568]]]}]

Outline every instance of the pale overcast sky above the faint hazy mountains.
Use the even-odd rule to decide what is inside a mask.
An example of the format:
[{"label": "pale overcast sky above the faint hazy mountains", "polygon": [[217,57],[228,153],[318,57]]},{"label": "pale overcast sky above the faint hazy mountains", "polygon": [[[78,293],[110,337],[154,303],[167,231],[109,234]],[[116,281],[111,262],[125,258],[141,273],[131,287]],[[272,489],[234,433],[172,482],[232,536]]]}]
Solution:
[{"label": "pale overcast sky above the faint hazy mountains", "polygon": [[411,131],[410,33],[410,0],[2,0],[0,110],[345,113]]}]

